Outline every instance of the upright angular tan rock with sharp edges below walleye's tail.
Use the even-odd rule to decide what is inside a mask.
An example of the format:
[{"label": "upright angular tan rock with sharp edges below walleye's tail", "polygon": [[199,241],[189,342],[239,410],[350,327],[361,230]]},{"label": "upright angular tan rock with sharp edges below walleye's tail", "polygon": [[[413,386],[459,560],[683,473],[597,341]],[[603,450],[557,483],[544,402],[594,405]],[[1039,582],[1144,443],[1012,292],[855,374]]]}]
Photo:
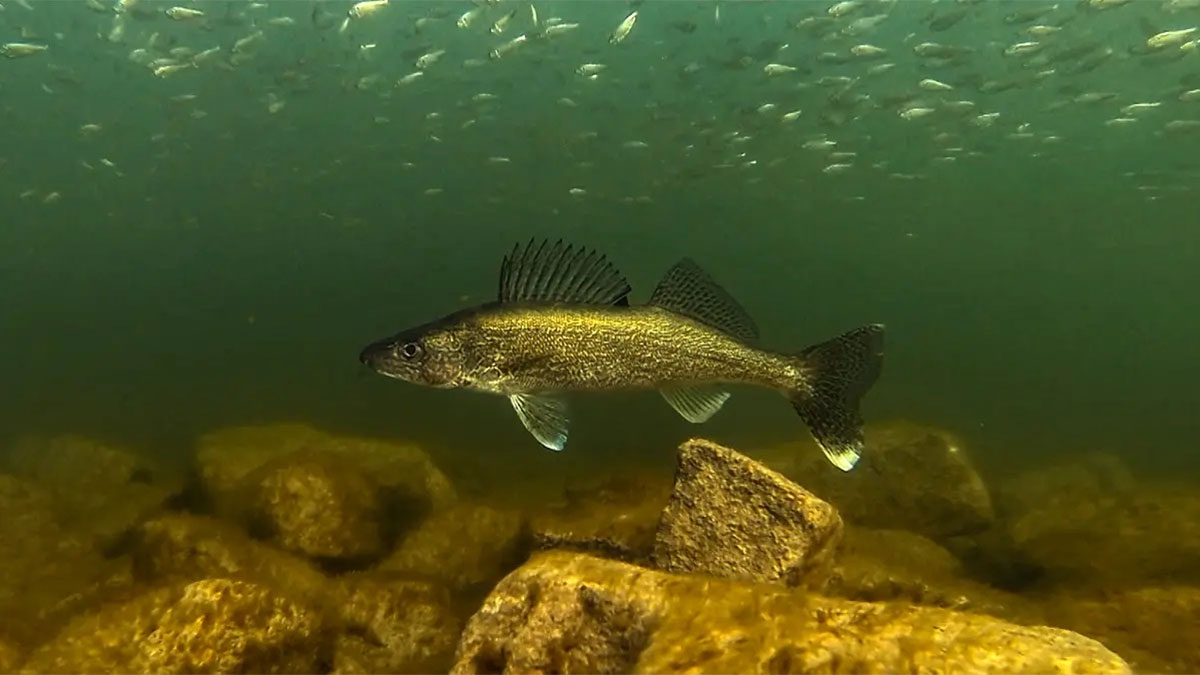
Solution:
[{"label": "upright angular tan rock with sharp edges below walleye's tail", "polygon": [[817,586],[841,538],[836,509],[736,450],[679,447],[654,565],[732,579]]}]

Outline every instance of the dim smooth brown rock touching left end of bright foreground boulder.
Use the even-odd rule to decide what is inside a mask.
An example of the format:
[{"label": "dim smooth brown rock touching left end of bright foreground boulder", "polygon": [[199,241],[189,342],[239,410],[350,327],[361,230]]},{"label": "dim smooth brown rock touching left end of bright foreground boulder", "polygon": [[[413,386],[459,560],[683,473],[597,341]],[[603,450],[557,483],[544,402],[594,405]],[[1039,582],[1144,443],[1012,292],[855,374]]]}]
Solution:
[{"label": "dim smooth brown rock touching left end of bright foreground boulder", "polygon": [[455,591],[494,584],[527,552],[523,516],[461,502],[426,518],[377,567],[436,579]]}]

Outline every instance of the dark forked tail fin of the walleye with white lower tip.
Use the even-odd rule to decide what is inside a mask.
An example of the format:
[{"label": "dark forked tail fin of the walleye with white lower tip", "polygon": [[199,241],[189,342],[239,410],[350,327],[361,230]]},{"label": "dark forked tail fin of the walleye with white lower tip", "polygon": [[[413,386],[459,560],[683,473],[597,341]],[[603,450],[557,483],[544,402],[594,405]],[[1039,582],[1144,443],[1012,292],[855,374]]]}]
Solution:
[{"label": "dark forked tail fin of the walleye with white lower tip", "polygon": [[821,450],[842,471],[863,454],[858,402],[883,366],[883,324],[872,323],[800,352],[804,387],[788,399]]}]

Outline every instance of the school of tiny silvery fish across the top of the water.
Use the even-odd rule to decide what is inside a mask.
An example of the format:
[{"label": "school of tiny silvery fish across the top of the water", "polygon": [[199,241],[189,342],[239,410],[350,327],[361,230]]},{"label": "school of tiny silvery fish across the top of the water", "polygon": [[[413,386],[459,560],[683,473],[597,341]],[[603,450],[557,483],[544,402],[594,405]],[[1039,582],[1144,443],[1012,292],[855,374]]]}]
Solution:
[{"label": "school of tiny silvery fish across the top of the water", "polygon": [[[0,0],[0,133],[56,125],[91,184],[251,151],[252,126],[313,145],[314,181],[386,153],[413,198],[528,199],[533,172],[551,210],[679,185],[862,201],[1129,148],[1108,163],[1144,198],[1200,185],[1200,0]],[[73,197],[11,147],[19,199]]]}]

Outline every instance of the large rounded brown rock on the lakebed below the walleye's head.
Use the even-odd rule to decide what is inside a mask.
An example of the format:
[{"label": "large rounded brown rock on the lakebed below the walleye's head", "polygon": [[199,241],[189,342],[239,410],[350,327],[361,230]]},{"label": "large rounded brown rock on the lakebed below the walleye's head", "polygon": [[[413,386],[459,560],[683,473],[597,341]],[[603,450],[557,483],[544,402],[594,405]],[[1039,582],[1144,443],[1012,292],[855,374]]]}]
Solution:
[{"label": "large rounded brown rock on the lakebed below the walleye's head", "polygon": [[209,434],[197,449],[212,508],[245,519],[288,548],[360,558],[456,498],[445,474],[413,444],[334,436],[302,424]]}]

